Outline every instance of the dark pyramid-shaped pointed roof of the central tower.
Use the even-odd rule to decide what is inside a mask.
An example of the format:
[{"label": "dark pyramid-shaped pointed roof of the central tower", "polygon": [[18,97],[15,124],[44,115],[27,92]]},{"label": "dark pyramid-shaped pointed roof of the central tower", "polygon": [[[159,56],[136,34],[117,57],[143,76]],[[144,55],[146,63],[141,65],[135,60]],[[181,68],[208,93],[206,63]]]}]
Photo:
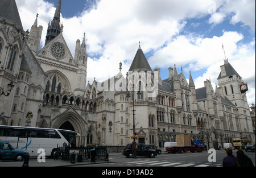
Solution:
[{"label": "dark pyramid-shaped pointed roof of the central tower", "polygon": [[138,51],[134,57],[133,63],[131,63],[129,71],[152,71],[141,49],[141,45],[139,45]]}]

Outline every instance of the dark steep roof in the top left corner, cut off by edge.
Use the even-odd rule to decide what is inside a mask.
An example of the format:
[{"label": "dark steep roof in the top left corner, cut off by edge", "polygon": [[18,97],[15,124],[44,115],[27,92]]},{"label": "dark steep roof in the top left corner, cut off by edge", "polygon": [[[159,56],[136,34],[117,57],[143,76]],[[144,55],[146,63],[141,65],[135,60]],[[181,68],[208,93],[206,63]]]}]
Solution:
[{"label": "dark steep roof in the top left corner, cut off by edge", "polygon": [[0,1],[0,16],[16,23],[23,30],[22,22],[20,20],[19,11],[15,0]]}]

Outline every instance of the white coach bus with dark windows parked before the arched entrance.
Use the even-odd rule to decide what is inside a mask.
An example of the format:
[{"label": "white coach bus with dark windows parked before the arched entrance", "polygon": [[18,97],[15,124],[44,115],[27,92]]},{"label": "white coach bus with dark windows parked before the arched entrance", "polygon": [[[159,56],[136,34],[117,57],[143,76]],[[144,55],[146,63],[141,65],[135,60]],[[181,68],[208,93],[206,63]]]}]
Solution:
[{"label": "white coach bus with dark windows parked before the arched entrance", "polygon": [[0,141],[9,142],[14,148],[26,150],[30,156],[38,156],[40,148],[46,151],[46,156],[53,156],[57,146],[63,146],[63,143],[75,147],[76,133],[62,129],[0,126]]}]

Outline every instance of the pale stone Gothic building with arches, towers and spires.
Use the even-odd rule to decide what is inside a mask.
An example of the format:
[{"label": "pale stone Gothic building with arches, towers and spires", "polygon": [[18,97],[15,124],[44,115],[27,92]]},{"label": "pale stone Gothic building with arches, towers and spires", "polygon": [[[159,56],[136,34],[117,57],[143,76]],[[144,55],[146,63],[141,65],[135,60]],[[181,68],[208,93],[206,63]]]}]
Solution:
[{"label": "pale stone Gothic building with arches, towers and spires", "polygon": [[[72,56],[63,36],[60,10],[61,0],[40,49],[43,27],[38,26],[38,15],[30,32],[24,31],[15,0],[0,1],[1,94],[14,82],[10,95],[0,97],[0,125],[74,130],[77,146],[125,146],[132,142],[133,126],[137,142],[159,147],[181,133],[203,138],[215,148],[245,135],[255,143],[246,93],[240,89],[242,77],[228,60],[216,76],[215,92],[209,80],[196,89],[192,75],[187,82],[176,66],[162,80],[160,69],[151,69],[141,47],[127,76],[122,75],[120,63],[120,72],[105,85],[96,80],[87,84],[85,35],[82,43],[76,41]],[[148,94],[151,85],[141,81],[143,73],[156,78],[151,82],[156,86],[155,96]],[[132,92],[129,74],[138,76],[141,94]]]}]

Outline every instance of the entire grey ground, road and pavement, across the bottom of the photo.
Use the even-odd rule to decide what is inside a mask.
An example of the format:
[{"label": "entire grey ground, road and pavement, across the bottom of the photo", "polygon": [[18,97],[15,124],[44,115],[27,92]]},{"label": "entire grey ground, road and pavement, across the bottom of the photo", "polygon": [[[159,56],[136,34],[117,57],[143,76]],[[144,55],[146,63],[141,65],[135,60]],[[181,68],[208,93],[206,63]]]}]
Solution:
[{"label": "entire grey ground, road and pavement, across the bottom of the photo", "polygon": [[[236,151],[234,151],[236,155]],[[247,152],[255,166],[255,153]],[[105,160],[96,160],[96,163],[84,161],[82,163],[72,164],[67,161],[46,159],[45,163],[38,163],[37,159],[30,159],[30,167],[222,167],[222,159],[226,156],[224,150],[216,151],[216,162],[209,163],[210,153],[203,151],[201,153],[187,152],[183,154],[166,154],[156,156],[155,158],[138,157],[137,159],[126,158],[121,154],[110,154],[109,162]],[[23,162],[0,161],[0,167],[22,167]]]}]

